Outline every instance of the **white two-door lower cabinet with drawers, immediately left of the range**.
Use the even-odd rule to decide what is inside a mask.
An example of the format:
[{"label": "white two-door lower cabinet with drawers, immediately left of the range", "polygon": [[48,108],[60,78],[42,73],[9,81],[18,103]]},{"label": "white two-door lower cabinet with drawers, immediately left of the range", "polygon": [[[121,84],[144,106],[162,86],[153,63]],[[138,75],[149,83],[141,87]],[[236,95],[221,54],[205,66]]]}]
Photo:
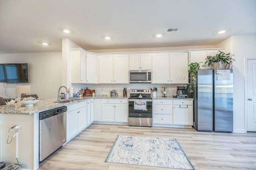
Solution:
[{"label": "white two-door lower cabinet with drawers, immediately left of the range", "polygon": [[126,99],[102,99],[102,121],[128,122],[128,101]]}]

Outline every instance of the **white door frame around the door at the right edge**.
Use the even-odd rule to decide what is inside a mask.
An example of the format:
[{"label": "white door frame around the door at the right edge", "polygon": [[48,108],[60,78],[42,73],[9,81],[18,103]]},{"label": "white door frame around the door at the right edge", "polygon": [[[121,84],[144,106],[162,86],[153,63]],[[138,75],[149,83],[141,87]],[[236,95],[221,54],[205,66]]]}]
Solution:
[{"label": "white door frame around the door at the right edge", "polygon": [[256,60],[256,57],[245,57],[244,58],[245,60],[245,67],[244,67],[244,130],[245,130],[245,133],[247,132],[247,75],[248,75],[248,72],[247,72],[247,62],[249,60]]}]

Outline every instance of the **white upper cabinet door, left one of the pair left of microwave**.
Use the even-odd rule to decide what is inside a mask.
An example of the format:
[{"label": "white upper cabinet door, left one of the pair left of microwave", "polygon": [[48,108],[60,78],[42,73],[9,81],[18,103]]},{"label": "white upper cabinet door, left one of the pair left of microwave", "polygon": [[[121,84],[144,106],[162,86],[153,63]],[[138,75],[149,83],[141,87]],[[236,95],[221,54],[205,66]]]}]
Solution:
[{"label": "white upper cabinet door, left one of the pair left of microwave", "polygon": [[99,56],[99,82],[113,83],[113,56]]}]

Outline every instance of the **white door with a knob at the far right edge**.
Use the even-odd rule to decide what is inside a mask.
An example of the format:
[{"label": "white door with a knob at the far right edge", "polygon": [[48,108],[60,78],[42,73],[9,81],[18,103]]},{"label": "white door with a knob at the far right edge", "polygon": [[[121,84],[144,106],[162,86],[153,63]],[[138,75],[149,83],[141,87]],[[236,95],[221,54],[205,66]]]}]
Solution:
[{"label": "white door with a knob at the far right edge", "polygon": [[247,59],[247,131],[256,132],[256,59]]}]

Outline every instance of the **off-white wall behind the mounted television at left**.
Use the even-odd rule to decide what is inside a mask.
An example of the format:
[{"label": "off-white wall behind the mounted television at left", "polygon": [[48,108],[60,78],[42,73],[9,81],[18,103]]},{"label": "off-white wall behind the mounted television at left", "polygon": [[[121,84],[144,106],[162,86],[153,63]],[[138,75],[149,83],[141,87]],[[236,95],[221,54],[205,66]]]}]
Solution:
[{"label": "off-white wall behind the mounted television at left", "polygon": [[[0,63],[28,63],[31,94],[37,94],[39,99],[56,98],[62,81],[62,52],[15,53],[0,54]],[[17,85],[22,85],[17,84]],[[4,88],[6,86],[6,89]],[[16,83],[0,83],[0,96],[16,98]],[[6,94],[5,94],[6,90]]]}]

